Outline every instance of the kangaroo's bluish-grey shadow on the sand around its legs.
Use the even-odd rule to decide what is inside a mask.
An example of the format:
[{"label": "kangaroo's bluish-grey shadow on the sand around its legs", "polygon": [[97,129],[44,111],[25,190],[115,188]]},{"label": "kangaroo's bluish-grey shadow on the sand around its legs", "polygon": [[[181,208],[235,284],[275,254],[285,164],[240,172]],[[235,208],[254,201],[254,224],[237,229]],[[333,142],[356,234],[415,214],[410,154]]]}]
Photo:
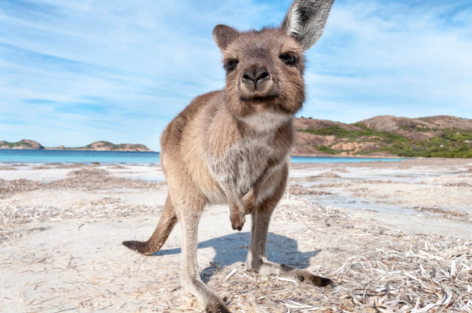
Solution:
[{"label": "kangaroo's bluish-grey shadow on the sand around its legs", "polygon": [[[212,247],[216,252],[212,263],[217,265],[228,265],[236,262],[244,263],[246,261],[249,239],[249,232],[233,233],[202,241],[198,244],[198,248]],[[320,251],[300,252],[298,251],[298,243],[294,239],[272,232],[269,232],[267,238],[266,256],[268,260],[275,263],[285,263],[302,269],[307,268],[310,265],[310,258],[317,255]],[[153,255],[173,255],[181,252],[181,248],[174,248],[159,250]],[[213,270],[212,266],[208,266],[201,272],[204,282],[207,282],[213,275]]]}]

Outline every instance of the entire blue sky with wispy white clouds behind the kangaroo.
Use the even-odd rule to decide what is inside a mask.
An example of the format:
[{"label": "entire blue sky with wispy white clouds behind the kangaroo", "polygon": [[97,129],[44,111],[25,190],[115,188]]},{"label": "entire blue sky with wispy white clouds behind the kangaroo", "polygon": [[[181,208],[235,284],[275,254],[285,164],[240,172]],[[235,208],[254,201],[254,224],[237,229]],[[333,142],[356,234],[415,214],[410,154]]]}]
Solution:
[{"label": "entire blue sky with wispy white clouds behind the kangaroo", "polygon": [[[278,25],[290,3],[0,0],[0,140],[158,151],[173,116],[224,86],[214,25]],[[337,0],[299,115],[472,118],[471,55],[470,0]]]}]

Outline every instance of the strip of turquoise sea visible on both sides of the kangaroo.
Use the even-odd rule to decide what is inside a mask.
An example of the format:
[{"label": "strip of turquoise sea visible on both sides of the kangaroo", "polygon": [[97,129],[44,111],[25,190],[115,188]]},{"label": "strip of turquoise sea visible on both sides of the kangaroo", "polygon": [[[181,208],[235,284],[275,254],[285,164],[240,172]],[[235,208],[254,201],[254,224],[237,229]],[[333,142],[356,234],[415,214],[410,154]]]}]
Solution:
[{"label": "strip of turquoise sea visible on both sides of the kangaroo", "polygon": [[[394,158],[361,157],[290,157],[291,163],[346,163],[401,161]],[[159,163],[159,152],[16,150],[0,149],[0,163],[91,163],[152,164]]]}]

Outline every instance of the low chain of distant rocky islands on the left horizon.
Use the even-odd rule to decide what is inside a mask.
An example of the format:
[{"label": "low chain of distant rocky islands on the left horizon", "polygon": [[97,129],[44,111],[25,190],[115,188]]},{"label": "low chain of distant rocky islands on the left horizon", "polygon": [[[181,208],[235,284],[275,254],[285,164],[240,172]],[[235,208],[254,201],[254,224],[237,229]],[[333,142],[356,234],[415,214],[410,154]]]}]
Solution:
[{"label": "low chain of distant rocky islands on the left horizon", "polygon": [[67,148],[62,145],[59,147],[43,147],[34,140],[20,140],[17,142],[0,141],[0,149],[45,149],[45,150],[87,150],[87,151],[139,151],[152,152],[151,149],[141,144],[121,143],[115,145],[109,141],[95,141],[84,147]]}]

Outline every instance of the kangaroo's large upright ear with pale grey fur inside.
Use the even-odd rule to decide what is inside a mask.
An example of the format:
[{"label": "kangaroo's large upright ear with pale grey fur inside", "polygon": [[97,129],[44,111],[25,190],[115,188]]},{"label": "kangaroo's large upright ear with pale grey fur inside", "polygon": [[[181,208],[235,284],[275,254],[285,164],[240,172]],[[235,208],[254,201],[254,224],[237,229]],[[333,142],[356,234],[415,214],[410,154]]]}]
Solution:
[{"label": "kangaroo's large upright ear with pale grey fur inside", "polygon": [[295,0],[282,23],[287,35],[295,37],[304,50],[310,49],[323,33],[334,0]]}]

